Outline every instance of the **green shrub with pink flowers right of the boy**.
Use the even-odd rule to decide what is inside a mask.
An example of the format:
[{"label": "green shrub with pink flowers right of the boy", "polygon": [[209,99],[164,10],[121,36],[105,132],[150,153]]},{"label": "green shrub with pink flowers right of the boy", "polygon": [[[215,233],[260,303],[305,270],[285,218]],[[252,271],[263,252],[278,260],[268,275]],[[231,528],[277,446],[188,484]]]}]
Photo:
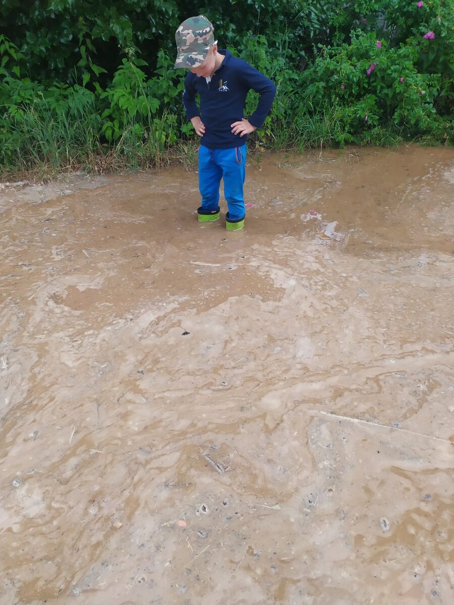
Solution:
[{"label": "green shrub with pink flowers right of the boy", "polygon": [[375,34],[358,30],[351,44],[324,48],[303,73],[303,96],[315,106],[338,108],[337,142],[367,142],[374,126],[390,123],[402,136],[443,137],[449,127],[436,114],[440,74],[421,74],[418,47],[377,45]]}]

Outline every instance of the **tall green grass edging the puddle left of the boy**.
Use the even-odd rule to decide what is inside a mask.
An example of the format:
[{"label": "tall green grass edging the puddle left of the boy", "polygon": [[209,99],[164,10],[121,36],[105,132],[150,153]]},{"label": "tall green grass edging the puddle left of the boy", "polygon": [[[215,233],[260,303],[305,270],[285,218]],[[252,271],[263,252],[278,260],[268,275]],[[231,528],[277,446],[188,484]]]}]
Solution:
[{"label": "tall green grass edging the puddle left of the boy", "polygon": [[[51,108],[41,99],[22,106],[0,122],[0,176],[33,173],[51,178],[58,172],[90,173],[150,169],[169,163],[194,163],[193,145],[175,139],[167,114],[137,128],[131,120],[122,136],[108,144],[100,136],[102,120],[93,102]],[[187,157],[186,157],[187,156]]]}]

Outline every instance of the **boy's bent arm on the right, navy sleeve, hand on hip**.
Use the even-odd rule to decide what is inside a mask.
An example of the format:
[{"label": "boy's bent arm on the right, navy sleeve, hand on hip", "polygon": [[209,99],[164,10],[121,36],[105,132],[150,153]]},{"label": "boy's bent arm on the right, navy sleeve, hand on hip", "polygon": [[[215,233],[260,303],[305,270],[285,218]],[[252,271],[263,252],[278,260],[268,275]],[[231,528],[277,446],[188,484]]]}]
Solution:
[{"label": "boy's bent arm on the right, navy sleeve, hand on hip", "polygon": [[243,136],[263,126],[266,116],[268,116],[269,110],[271,110],[271,105],[276,94],[276,87],[268,77],[254,69],[246,61],[243,62],[241,79],[247,87],[252,88],[252,90],[260,94],[257,108],[249,120],[242,120],[242,122],[235,122],[231,125],[234,134]]}]

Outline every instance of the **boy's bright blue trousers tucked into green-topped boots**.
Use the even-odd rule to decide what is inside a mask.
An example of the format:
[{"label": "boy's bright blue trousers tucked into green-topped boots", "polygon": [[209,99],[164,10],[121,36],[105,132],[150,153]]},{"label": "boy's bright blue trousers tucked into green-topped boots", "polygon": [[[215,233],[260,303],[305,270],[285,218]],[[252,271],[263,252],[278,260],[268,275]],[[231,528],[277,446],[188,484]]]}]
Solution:
[{"label": "boy's bright blue trousers tucked into green-topped boots", "polygon": [[228,220],[245,218],[243,184],[246,177],[246,144],[233,149],[199,149],[199,190],[202,210],[219,208],[219,186],[224,180],[224,195],[229,209]]}]

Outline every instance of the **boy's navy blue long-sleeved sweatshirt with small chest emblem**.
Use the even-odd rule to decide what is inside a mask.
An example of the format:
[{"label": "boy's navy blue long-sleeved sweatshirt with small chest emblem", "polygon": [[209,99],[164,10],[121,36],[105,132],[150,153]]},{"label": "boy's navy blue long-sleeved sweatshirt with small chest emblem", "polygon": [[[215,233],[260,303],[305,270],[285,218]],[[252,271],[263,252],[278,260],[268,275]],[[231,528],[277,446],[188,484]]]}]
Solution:
[{"label": "boy's navy blue long-sleeved sweatshirt with small chest emblem", "polygon": [[260,71],[243,59],[232,56],[228,50],[220,50],[219,53],[224,54],[225,59],[214,72],[211,82],[188,71],[183,103],[188,120],[200,116],[196,103],[196,94],[199,93],[200,117],[205,124],[205,134],[200,143],[211,149],[229,149],[246,142],[247,135],[232,134],[231,125],[243,119],[249,90],[260,94],[257,109],[249,117],[252,126],[260,128],[271,109],[276,87]]}]

